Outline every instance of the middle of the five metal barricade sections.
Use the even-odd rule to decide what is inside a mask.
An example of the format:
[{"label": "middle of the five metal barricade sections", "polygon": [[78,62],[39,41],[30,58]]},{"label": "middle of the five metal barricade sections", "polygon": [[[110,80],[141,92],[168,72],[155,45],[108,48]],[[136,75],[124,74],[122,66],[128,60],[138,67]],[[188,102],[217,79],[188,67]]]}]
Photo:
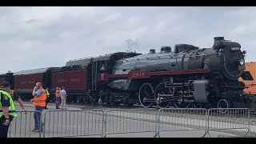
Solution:
[{"label": "middle of the five metal barricade sections", "polygon": [[105,137],[108,134],[153,132],[156,134],[157,110],[115,109],[106,110]]}]

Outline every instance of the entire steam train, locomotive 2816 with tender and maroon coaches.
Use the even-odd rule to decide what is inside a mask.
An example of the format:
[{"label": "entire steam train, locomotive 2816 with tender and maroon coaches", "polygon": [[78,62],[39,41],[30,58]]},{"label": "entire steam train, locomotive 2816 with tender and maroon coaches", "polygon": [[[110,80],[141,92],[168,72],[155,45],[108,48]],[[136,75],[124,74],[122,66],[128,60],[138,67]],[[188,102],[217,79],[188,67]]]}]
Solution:
[{"label": "entire steam train, locomotive 2816 with tender and maroon coaches", "polygon": [[[139,103],[144,107],[247,107],[250,95],[238,78],[253,80],[245,71],[245,50],[238,42],[215,37],[211,48],[178,44],[162,46],[159,53],[117,52],[80,58],[66,66],[0,74],[22,98],[31,97],[35,82],[65,86],[68,102],[108,105]],[[10,78],[9,78],[10,77]],[[33,86],[30,84],[33,84]]]}]

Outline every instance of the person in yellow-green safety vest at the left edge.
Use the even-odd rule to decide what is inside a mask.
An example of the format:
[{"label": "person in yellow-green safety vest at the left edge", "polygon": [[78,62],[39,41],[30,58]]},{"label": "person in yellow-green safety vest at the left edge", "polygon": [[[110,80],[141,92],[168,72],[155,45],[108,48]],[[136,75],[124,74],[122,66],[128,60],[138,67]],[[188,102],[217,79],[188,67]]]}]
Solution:
[{"label": "person in yellow-green safety vest at the left edge", "polygon": [[0,138],[7,138],[10,122],[17,117],[14,101],[11,98],[10,83],[0,83]]}]

